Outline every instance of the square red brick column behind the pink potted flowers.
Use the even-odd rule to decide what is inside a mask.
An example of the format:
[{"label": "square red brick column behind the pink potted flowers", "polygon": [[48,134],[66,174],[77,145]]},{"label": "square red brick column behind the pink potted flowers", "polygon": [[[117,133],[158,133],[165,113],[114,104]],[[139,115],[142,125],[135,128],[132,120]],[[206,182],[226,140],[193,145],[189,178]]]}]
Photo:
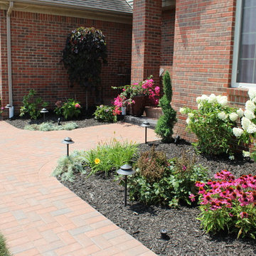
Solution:
[{"label": "square red brick column behind the pink potted flowers", "polygon": [[161,0],[135,0],[132,27],[132,82],[153,75],[159,84]]}]

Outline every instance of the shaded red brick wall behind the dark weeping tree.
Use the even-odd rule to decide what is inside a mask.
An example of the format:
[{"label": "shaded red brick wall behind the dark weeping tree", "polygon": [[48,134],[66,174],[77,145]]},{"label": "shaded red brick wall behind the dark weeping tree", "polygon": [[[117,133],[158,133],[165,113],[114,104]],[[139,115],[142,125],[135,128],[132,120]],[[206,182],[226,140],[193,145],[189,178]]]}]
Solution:
[{"label": "shaded red brick wall behind the dark weeping tree", "polygon": [[[1,11],[1,35],[6,34],[4,27],[6,11]],[[54,107],[56,100],[65,97],[76,97],[85,105],[85,90],[79,85],[70,87],[67,71],[60,63],[62,50],[68,34],[79,26],[94,26],[105,34],[108,50],[108,65],[102,68],[102,97],[105,101],[114,97],[116,92],[111,86],[126,83],[124,77],[117,75],[120,71],[129,72],[132,50],[132,26],[123,23],[95,21],[84,18],[53,16],[13,11],[11,14],[11,58],[13,69],[14,105],[16,110],[21,105],[23,95],[33,88],[39,92],[43,100]],[[6,38],[2,44],[5,47]],[[6,56],[3,53],[3,86],[4,104],[6,98]],[[120,66],[122,66],[120,70]],[[89,91],[89,105],[94,105],[94,96],[100,95]],[[8,95],[7,95],[8,96]]]}]

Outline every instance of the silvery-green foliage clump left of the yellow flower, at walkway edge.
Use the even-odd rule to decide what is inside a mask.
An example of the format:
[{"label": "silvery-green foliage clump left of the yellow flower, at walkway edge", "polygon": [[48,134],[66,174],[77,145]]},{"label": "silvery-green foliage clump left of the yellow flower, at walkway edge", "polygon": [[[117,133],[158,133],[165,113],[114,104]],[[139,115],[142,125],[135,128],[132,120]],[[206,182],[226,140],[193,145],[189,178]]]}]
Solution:
[{"label": "silvery-green foliage clump left of the yellow flower, at walkway edge", "polygon": [[73,151],[70,156],[58,159],[58,166],[53,171],[53,176],[61,181],[74,181],[74,174],[86,174],[87,160],[85,151]]}]

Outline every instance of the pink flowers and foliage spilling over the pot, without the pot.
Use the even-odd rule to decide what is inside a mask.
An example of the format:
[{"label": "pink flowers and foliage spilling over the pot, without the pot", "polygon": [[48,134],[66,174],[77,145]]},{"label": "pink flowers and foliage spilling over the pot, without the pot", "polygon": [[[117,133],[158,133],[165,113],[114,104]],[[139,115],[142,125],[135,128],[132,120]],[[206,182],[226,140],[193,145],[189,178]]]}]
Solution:
[{"label": "pink flowers and foliage spilling over the pot, without the pot", "polygon": [[114,106],[116,107],[117,114],[121,112],[120,107],[134,104],[135,96],[148,96],[153,105],[159,104],[160,87],[154,85],[152,76],[142,82],[134,82],[132,85],[112,88],[122,90],[122,92],[114,98]]}]

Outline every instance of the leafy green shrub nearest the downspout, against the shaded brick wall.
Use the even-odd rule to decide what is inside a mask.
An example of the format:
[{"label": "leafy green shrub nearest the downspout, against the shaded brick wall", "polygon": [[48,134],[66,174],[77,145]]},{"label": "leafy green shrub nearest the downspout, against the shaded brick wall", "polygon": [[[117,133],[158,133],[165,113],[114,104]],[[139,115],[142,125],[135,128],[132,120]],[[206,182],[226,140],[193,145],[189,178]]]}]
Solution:
[{"label": "leafy green shrub nearest the downspout, against the shaded brick wall", "polygon": [[31,119],[38,119],[40,111],[43,107],[47,107],[48,103],[43,102],[41,97],[36,97],[36,90],[29,90],[28,95],[23,96],[22,107],[20,109],[20,117],[28,113]]}]

